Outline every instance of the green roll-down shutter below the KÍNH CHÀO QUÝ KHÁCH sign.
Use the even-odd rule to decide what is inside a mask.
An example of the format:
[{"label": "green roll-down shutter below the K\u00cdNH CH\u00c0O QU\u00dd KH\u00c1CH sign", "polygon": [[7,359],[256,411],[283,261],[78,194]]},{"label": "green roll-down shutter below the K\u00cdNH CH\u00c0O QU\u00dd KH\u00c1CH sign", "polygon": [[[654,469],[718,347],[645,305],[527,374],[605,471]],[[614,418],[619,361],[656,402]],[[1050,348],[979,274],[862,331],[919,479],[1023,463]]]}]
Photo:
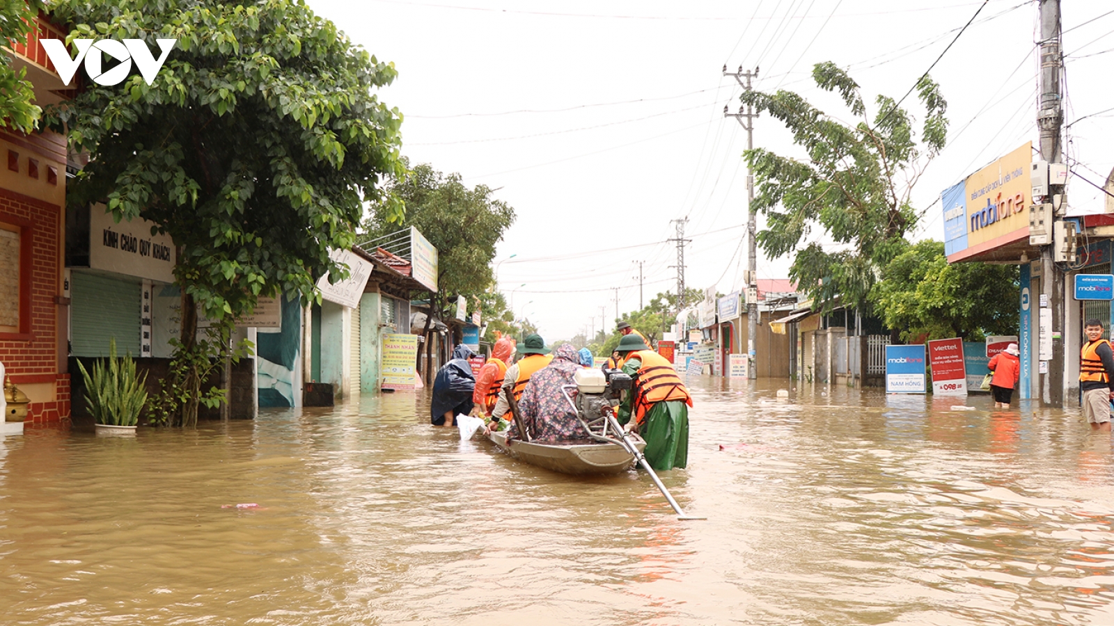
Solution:
[{"label": "green roll-down shutter below the K\u00cdNH CH\u00c0O QU\u00dd KH\u00c1CH sign", "polygon": [[70,336],[75,356],[107,356],[116,338],[117,354],[139,355],[139,278],[109,278],[74,272],[70,285]]}]

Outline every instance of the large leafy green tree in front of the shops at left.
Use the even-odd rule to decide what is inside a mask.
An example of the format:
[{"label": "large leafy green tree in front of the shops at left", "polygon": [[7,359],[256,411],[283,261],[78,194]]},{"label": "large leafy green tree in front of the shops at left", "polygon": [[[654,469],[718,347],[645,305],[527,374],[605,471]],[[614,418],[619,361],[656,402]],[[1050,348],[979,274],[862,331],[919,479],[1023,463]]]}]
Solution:
[{"label": "large leafy green tree in front of the shops at left", "polygon": [[296,0],[63,0],[50,11],[71,25],[69,40],[143,39],[157,50],[155,39],[177,39],[152,85],[138,74],[90,81],[45,118],[94,157],[68,189],[71,204],[105,200],[116,219],[149,219],[177,246],[172,380],[192,426],[207,358],[198,311],[223,335],[260,295],[320,301],[320,276],[346,275],[329,254],[352,246],[363,203],[401,217],[381,186],[403,172],[401,116],[373,95],[394,67]]}]

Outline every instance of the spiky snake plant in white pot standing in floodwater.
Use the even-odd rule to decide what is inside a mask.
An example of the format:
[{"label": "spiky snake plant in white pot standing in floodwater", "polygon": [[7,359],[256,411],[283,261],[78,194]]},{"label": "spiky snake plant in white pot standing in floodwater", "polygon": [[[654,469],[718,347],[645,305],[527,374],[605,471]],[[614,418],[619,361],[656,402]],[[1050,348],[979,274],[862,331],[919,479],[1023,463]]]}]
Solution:
[{"label": "spiky snake plant in white pot standing in floodwater", "polygon": [[136,374],[136,362],[129,352],[116,358],[116,338],[108,343],[108,363],[98,359],[92,375],[78,361],[85,379],[85,401],[96,420],[98,434],[135,434],[139,412],[147,402],[147,373]]}]

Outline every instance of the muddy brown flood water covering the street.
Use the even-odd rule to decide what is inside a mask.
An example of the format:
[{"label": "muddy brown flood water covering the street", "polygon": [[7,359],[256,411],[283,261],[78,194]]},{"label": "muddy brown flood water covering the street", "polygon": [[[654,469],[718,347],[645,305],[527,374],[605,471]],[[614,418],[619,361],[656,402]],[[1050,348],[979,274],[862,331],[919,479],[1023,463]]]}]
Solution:
[{"label": "muddy brown flood water covering the street", "polygon": [[1114,624],[1111,439],[1077,411],[788,384],[692,384],[663,480],[706,521],[639,472],[462,442],[413,394],[28,430],[0,439],[0,622]]}]

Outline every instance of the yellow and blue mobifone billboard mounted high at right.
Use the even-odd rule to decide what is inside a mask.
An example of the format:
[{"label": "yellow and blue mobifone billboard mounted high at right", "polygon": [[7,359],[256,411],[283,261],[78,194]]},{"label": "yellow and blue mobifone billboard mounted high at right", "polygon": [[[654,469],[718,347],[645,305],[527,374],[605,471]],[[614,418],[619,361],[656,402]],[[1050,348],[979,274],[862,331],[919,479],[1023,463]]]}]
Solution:
[{"label": "yellow and blue mobifone billboard mounted high at right", "polygon": [[940,194],[949,263],[1029,236],[1032,163],[1029,141]]}]

